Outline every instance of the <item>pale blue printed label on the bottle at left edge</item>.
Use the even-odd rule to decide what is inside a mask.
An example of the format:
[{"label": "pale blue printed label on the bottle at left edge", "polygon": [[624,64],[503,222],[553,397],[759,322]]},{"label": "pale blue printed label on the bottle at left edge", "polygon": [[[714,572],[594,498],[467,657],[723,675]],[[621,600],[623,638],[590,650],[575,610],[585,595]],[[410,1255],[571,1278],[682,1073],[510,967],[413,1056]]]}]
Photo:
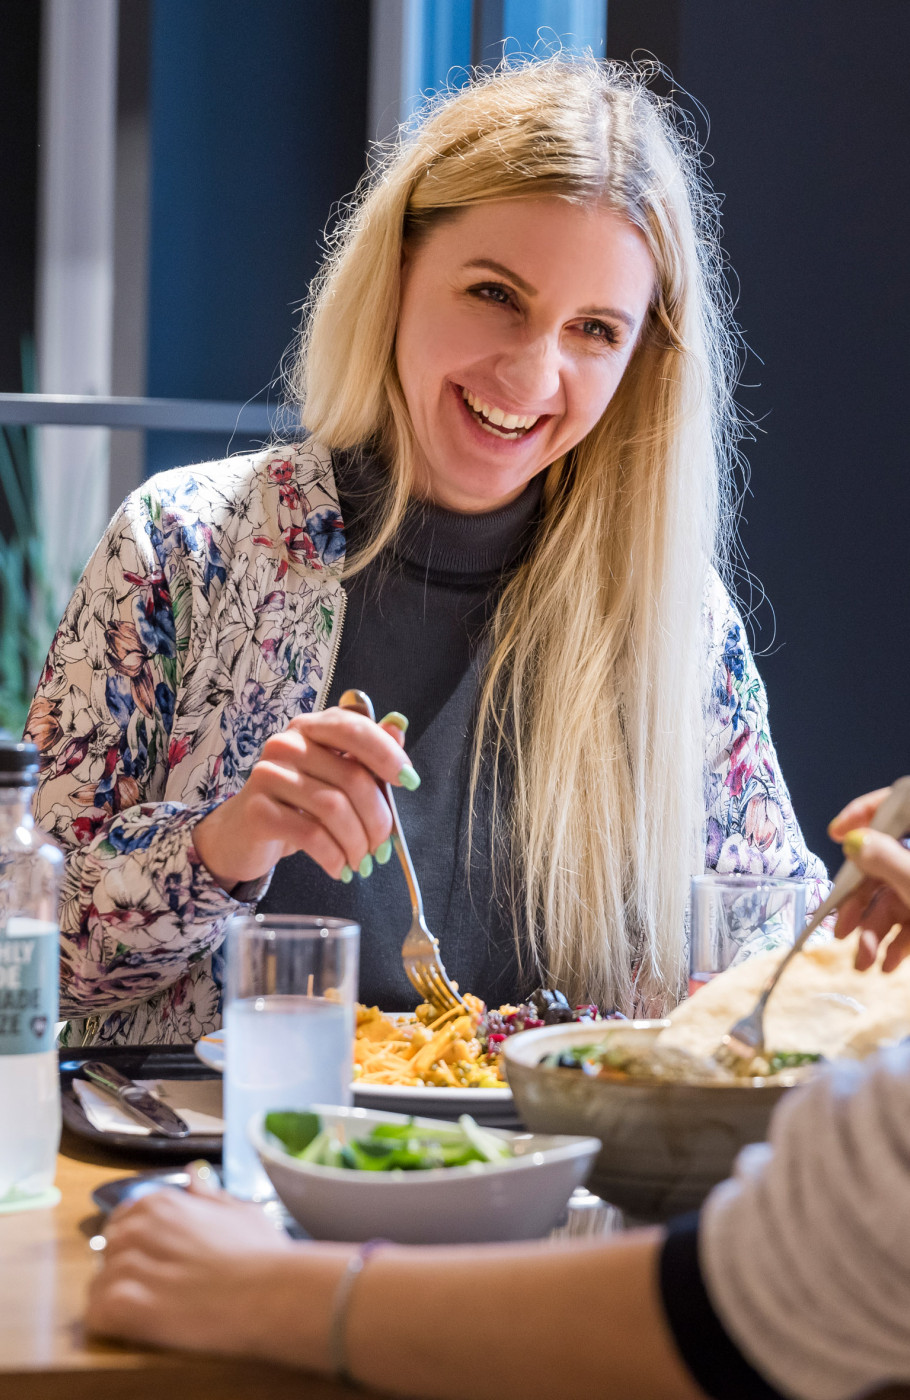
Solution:
[{"label": "pale blue printed label on the bottle at left edge", "polygon": [[0,1056],[53,1050],[60,931],[39,918],[0,925]]}]

